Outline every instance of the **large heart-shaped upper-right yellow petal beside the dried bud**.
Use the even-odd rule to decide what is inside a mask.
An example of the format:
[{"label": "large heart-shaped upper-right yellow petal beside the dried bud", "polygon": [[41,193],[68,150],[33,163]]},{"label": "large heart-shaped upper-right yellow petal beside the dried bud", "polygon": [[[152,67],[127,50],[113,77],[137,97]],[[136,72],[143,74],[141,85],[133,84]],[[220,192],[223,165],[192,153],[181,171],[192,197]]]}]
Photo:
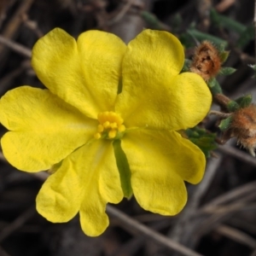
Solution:
[{"label": "large heart-shaped upper-right yellow petal beside the dried bud", "polygon": [[195,73],[178,75],[183,58],[182,45],[168,32],[146,30],[131,41],[115,108],[127,127],[180,130],[206,116],[210,90]]}]

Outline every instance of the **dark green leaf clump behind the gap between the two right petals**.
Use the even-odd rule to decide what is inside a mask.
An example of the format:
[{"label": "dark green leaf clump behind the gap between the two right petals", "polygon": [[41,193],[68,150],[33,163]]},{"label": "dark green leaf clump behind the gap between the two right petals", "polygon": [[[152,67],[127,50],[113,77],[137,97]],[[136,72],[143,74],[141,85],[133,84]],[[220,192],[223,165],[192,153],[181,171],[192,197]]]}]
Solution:
[{"label": "dark green leaf clump behind the gap between the two right petals", "polygon": [[194,143],[201,151],[206,155],[206,157],[211,156],[213,149],[217,148],[217,143],[215,142],[216,134],[209,132],[205,129],[201,129],[197,126],[185,131],[189,141]]}]

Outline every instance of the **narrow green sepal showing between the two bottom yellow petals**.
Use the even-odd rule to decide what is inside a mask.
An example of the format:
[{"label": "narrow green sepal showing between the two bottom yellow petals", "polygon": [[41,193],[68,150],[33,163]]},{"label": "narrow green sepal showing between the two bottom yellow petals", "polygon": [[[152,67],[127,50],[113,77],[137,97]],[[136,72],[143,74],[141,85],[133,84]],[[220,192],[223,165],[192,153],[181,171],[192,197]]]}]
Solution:
[{"label": "narrow green sepal showing between the two bottom yellow petals", "polygon": [[121,186],[123,189],[124,196],[130,199],[133,193],[131,188],[131,171],[125,152],[121,148],[120,140],[113,141],[113,151],[116,164],[119,169]]}]

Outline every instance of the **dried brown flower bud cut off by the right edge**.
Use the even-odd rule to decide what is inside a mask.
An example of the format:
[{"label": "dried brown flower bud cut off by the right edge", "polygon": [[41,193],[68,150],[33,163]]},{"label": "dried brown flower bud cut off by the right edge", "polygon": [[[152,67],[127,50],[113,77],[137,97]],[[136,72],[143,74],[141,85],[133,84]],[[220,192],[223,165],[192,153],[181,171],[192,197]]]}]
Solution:
[{"label": "dried brown flower bud cut off by the right edge", "polygon": [[256,148],[256,106],[240,108],[232,114],[232,121],[224,137],[236,137],[237,142],[255,156]]}]

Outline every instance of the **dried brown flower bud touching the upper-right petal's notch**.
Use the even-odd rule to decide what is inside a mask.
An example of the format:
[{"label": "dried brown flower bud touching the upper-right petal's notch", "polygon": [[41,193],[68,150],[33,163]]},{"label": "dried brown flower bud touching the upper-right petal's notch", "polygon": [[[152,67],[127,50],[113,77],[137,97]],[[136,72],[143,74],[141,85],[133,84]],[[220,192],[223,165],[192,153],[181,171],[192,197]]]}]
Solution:
[{"label": "dried brown flower bud touching the upper-right petal's notch", "polygon": [[221,58],[218,49],[208,41],[202,42],[196,49],[190,71],[201,75],[208,81],[216,77],[221,68]]}]

